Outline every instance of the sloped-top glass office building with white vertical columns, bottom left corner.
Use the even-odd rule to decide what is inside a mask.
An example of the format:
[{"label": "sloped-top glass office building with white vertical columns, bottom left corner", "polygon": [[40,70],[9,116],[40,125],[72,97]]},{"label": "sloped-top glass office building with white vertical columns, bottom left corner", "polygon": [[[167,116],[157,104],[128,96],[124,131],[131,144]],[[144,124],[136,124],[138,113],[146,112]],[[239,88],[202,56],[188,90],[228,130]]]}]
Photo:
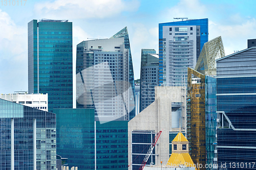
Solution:
[{"label": "sloped-top glass office building with white vertical columns, bottom left corner", "polygon": [[0,99],[0,169],[56,169],[55,114]]}]

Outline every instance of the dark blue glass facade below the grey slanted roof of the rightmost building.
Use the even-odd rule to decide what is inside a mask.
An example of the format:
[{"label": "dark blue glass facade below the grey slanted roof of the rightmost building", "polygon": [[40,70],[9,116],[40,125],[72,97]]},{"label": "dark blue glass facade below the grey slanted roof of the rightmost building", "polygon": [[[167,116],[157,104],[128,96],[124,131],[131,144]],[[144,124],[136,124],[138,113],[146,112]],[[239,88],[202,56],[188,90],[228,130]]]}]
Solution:
[{"label": "dark blue glass facade below the grey slanted roof of the rightmost building", "polygon": [[255,162],[255,86],[256,77],[217,79],[217,110],[227,116],[219,116],[218,164],[226,162],[227,169],[251,169]]}]

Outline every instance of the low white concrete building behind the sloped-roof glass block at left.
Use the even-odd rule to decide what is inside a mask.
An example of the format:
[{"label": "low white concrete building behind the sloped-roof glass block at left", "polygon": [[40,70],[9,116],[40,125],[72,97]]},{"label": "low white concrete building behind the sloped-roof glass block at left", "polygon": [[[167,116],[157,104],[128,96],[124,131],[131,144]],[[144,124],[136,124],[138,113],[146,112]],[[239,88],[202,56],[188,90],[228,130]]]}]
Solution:
[{"label": "low white concrete building behind the sloped-roof glass block at left", "polygon": [[0,94],[0,99],[13,103],[22,104],[39,110],[48,111],[48,93],[46,94],[27,94],[27,93],[10,93]]}]

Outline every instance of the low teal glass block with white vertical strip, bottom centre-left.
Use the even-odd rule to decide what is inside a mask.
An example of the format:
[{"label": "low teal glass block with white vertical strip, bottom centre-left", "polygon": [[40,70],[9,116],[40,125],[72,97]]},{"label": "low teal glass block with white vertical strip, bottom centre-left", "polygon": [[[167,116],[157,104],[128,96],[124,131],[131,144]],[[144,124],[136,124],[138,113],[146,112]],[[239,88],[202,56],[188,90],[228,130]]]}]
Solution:
[{"label": "low teal glass block with white vertical strip, bottom centre-left", "polygon": [[94,109],[54,109],[54,112],[57,155],[68,158],[69,166],[84,170],[127,169],[128,121],[100,124],[94,120]]}]

